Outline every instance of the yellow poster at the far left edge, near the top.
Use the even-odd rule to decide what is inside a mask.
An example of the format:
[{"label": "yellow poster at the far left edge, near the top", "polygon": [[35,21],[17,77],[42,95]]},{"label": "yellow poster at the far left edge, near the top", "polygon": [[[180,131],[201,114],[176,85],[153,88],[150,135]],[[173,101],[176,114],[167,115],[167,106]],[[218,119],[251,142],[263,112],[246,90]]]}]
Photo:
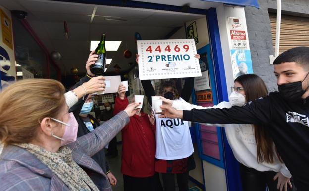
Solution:
[{"label": "yellow poster at the far left edge, near the top", "polygon": [[2,29],[2,40],[9,48],[13,49],[12,39],[12,22],[11,19],[0,9],[1,13],[1,29]]}]

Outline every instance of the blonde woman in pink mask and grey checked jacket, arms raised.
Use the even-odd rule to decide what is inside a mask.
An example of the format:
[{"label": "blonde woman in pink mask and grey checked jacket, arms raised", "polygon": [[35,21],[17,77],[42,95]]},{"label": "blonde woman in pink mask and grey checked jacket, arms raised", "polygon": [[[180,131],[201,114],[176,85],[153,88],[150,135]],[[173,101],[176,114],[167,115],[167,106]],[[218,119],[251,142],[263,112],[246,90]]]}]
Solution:
[{"label": "blonde woman in pink mask and grey checked jacket, arms raised", "polygon": [[79,98],[103,91],[104,80],[93,77],[65,95],[56,80],[21,80],[0,93],[0,191],[111,191],[91,156],[129,122],[139,104],[77,139],[78,124],[68,112]]}]

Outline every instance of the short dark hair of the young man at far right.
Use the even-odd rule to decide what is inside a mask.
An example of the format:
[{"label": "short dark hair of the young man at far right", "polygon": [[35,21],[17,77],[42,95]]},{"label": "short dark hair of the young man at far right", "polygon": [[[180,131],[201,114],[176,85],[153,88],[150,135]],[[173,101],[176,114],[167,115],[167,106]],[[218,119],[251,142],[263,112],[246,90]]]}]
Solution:
[{"label": "short dark hair of the young man at far right", "polygon": [[295,47],[281,53],[273,64],[295,62],[301,64],[304,68],[309,68],[309,47]]}]

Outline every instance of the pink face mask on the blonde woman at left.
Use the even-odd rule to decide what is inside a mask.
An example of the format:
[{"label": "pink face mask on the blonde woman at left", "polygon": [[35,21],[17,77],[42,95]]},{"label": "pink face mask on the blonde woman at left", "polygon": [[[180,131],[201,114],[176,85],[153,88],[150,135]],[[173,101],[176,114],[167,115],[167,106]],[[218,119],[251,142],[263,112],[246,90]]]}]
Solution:
[{"label": "pink face mask on the blonde woman at left", "polygon": [[71,142],[76,141],[76,139],[77,139],[78,123],[77,123],[75,116],[72,112],[69,115],[70,115],[70,120],[68,121],[68,123],[64,123],[60,120],[51,118],[52,120],[66,126],[65,129],[64,129],[64,134],[63,134],[62,138],[54,135],[53,133],[51,134],[51,136],[53,136],[54,138],[61,140],[60,146],[67,145]]}]

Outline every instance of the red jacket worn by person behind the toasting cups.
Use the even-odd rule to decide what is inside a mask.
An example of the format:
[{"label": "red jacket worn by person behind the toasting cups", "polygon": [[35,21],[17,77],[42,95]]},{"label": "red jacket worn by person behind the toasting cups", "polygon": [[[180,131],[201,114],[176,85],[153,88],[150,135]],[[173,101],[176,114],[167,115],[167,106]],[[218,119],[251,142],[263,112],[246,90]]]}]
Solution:
[{"label": "red jacket worn by person behind the toasting cups", "polygon": [[[124,110],[128,99],[115,100],[114,114]],[[122,133],[122,174],[131,177],[150,177],[154,175],[155,161],[155,124],[151,125],[147,114],[130,117],[130,122]]]}]

